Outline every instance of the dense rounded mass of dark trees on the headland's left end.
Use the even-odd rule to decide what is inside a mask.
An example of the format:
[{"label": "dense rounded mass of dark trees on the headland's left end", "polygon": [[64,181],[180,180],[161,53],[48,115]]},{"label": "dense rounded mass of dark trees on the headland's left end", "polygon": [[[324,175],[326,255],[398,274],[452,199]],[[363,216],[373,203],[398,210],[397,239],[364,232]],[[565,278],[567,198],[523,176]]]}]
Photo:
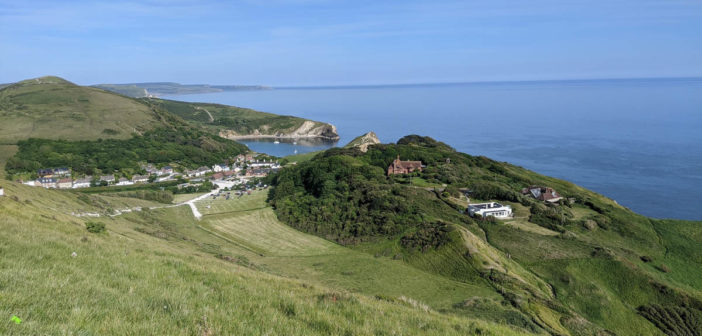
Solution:
[{"label": "dense rounded mass of dark trees on the headland's left end", "polygon": [[270,201],[281,220],[342,244],[395,235],[422,222],[382,169],[346,155],[284,169],[271,184]]}]

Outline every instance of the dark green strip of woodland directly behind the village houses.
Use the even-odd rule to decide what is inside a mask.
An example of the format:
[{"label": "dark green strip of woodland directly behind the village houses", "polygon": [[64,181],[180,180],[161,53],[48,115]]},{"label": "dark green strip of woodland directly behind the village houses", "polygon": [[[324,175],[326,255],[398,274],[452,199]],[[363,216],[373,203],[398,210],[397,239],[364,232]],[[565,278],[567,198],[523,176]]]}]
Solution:
[{"label": "dark green strip of woodland directly behind the village houses", "polygon": [[188,127],[160,128],[131,139],[67,141],[28,139],[18,142],[18,152],[8,160],[9,174],[41,168],[70,167],[79,175],[139,170],[139,162],[177,162],[195,168],[212,165],[245,153],[246,146]]}]

